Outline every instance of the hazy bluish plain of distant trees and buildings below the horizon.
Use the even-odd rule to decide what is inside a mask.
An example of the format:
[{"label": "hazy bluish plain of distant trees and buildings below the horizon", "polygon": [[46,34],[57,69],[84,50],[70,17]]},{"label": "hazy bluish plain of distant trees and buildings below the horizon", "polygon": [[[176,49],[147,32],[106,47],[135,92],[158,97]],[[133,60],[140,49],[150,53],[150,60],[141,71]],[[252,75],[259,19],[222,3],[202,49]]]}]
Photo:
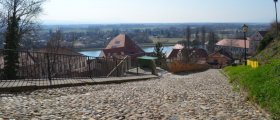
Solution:
[{"label": "hazy bluish plain of distant trees and buildings below the horizon", "polygon": [[[109,24],[109,25],[43,25],[31,34],[26,40],[21,41],[23,48],[43,48],[51,39],[53,33],[61,34],[61,45],[82,50],[94,50],[104,48],[108,42],[120,33],[126,33],[140,46],[153,46],[156,42],[165,45],[175,45],[186,39],[186,28],[191,27],[192,42],[195,35],[201,35],[201,29],[206,33],[214,32],[217,39],[242,38],[241,23],[189,23],[189,24]],[[248,35],[256,31],[268,29],[266,23],[249,23]],[[207,40],[206,40],[207,41]],[[3,43],[0,39],[0,43]],[[3,48],[1,44],[0,48]]]}]

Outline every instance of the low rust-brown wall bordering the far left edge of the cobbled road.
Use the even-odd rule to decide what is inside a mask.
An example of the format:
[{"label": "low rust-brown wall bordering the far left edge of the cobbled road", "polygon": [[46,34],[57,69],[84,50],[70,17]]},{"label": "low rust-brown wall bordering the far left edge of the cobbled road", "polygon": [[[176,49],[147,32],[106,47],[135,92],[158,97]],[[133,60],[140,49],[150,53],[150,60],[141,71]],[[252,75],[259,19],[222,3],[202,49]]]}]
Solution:
[{"label": "low rust-brown wall bordering the far left edge of the cobbled road", "polygon": [[174,61],[167,64],[169,72],[179,73],[179,72],[196,72],[209,69],[208,64],[195,64],[195,63],[182,63],[179,61]]}]

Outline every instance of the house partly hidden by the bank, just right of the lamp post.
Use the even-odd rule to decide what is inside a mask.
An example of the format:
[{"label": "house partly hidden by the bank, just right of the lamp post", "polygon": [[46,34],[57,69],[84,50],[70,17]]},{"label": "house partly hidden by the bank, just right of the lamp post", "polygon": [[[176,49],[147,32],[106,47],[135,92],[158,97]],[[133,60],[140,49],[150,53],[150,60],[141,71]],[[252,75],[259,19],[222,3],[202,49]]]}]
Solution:
[{"label": "house partly hidden by the bank, just right of the lamp post", "polygon": [[260,45],[260,42],[263,40],[264,36],[268,33],[268,31],[257,31],[255,34],[253,34],[250,39],[250,51],[252,54],[255,54],[258,46]]}]

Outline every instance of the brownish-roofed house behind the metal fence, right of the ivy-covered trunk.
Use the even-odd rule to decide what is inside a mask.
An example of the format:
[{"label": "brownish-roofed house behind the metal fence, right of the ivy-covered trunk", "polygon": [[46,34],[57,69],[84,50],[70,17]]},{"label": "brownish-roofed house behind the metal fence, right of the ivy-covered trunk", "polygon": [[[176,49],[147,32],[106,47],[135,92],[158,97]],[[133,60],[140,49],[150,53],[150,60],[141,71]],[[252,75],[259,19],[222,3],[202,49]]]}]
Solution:
[{"label": "brownish-roofed house behind the metal fence, right of the ivy-covered trunk", "polygon": [[[41,64],[41,67],[47,68],[47,62],[49,62],[54,76],[62,76],[73,72],[82,73],[88,70],[88,58],[68,48],[43,48],[35,53],[37,54],[32,55],[34,64]],[[45,70],[42,69],[41,72]]]}]

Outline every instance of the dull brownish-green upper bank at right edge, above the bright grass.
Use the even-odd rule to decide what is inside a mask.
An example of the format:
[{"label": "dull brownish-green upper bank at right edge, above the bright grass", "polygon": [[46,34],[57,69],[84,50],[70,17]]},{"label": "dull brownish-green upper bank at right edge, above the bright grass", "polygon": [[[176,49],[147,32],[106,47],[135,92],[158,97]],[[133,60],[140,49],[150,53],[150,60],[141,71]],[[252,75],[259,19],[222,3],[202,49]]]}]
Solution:
[{"label": "dull brownish-green upper bank at right edge, above the bright grass", "polygon": [[280,38],[271,42],[263,51],[254,57],[261,64],[268,63],[270,60],[280,59]]}]

